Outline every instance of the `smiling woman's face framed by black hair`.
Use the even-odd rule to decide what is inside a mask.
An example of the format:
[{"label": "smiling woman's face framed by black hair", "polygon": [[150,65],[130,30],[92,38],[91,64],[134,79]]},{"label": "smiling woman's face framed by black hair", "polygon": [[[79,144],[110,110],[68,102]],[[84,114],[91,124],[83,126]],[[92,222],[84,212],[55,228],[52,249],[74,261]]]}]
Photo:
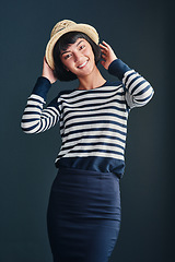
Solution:
[{"label": "smiling woman's face framed by black hair", "polygon": [[84,38],[78,38],[67,50],[61,50],[60,59],[66,69],[74,73],[78,79],[91,74],[96,67],[92,47]]}]

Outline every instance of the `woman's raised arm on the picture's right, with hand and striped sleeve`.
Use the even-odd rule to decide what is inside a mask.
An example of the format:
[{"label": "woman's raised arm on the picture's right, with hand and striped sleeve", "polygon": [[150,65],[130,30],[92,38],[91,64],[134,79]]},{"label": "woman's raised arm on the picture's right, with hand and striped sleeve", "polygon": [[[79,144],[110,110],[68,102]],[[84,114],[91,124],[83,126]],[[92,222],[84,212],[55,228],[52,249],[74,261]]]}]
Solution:
[{"label": "woman's raised arm on the picture's right, with hand and striped sleeve", "polygon": [[150,83],[135,70],[131,70],[120,59],[117,59],[112,47],[103,41],[102,50],[103,67],[109,73],[116,75],[126,87],[126,100],[130,108],[144,106],[153,96]]}]

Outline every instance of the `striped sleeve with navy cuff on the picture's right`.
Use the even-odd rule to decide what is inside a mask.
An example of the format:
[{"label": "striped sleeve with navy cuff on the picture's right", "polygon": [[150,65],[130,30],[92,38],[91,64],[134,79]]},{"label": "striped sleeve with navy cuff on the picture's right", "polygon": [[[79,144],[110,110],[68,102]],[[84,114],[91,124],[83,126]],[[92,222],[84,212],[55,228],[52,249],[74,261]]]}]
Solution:
[{"label": "striped sleeve with navy cuff on the picture's right", "polygon": [[154,91],[150,83],[120,59],[110,63],[108,72],[122,81],[130,108],[144,106],[152,98]]}]

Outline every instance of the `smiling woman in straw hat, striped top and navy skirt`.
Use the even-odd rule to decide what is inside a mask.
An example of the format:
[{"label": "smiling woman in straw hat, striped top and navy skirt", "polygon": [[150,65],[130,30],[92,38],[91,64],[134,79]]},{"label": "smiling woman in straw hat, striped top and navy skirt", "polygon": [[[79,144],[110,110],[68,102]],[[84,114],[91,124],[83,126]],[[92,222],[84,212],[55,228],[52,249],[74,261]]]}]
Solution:
[{"label": "smiling woman in straw hat, striped top and navy skirt", "polygon": [[[120,81],[106,81],[97,62]],[[78,79],[44,109],[57,80]],[[106,262],[120,227],[119,179],[125,169],[127,119],[131,108],[152,97],[151,85],[118,59],[108,44],[98,45],[94,27],[57,23],[46,47],[43,74],[22,118],[26,133],[58,121],[62,144],[56,158],[47,222],[55,262]]]}]

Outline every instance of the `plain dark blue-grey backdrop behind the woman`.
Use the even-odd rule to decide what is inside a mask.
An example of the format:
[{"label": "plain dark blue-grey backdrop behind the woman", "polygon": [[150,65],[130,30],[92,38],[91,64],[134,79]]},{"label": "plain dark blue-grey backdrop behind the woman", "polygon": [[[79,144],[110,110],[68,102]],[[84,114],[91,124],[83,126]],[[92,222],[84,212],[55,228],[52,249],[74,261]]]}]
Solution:
[{"label": "plain dark blue-grey backdrop behind the woman", "polygon": [[[174,261],[173,8],[173,1],[156,0],[1,1],[0,262],[51,262],[46,211],[59,130],[26,135],[20,122],[50,31],[62,19],[96,27],[101,40],[155,90],[145,107],[130,114],[122,223],[110,261]],[[75,84],[54,84],[48,100]]]}]

